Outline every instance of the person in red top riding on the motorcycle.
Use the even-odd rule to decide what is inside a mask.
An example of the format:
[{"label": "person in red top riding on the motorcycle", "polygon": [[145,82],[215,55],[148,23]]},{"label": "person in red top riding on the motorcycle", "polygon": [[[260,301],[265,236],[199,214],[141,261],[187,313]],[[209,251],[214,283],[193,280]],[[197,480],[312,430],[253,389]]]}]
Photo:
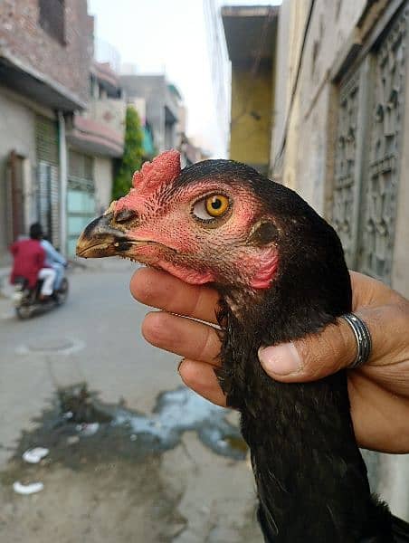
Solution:
[{"label": "person in red top riding on the motorcycle", "polygon": [[14,284],[18,276],[24,277],[28,282],[28,287],[33,289],[39,279],[43,280],[40,300],[47,300],[52,295],[56,272],[47,267],[42,238],[41,224],[34,223],[30,226],[30,238],[14,242],[10,247],[10,252],[14,257],[10,282]]}]

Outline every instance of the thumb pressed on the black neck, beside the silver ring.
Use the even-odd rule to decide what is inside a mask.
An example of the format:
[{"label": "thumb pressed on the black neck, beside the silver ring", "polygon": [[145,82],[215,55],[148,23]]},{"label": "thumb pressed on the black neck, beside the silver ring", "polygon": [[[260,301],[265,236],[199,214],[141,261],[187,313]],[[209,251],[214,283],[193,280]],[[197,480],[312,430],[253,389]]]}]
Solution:
[{"label": "thumb pressed on the black neck, beside the silver ring", "polygon": [[356,356],[356,339],[344,319],[307,338],[259,349],[265,372],[287,383],[328,376],[349,366]]}]

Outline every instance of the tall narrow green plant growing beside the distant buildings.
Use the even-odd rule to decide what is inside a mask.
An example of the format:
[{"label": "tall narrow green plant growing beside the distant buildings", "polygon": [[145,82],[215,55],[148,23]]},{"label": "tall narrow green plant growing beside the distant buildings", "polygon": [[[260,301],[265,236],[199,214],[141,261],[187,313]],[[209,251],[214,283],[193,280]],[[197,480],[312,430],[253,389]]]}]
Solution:
[{"label": "tall narrow green plant growing beside the distant buildings", "polygon": [[128,193],[134,172],[142,166],[142,157],[143,132],[138,111],[133,106],[128,106],[125,121],[124,154],[112,186],[114,200]]}]

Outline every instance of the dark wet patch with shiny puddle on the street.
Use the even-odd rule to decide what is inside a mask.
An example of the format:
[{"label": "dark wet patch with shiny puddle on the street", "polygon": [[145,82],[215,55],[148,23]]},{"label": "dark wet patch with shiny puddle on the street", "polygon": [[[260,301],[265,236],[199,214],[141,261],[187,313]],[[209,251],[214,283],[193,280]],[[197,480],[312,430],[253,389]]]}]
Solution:
[{"label": "dark wet patch with shiny puddle on the street", "polygon": [[120,403],[105,404],[85,384],[69,386],[59,390],[52,405],[34,420],[34,430],[23,432],[14,453],[15,467],[29,469],[21,455],[37,446],[50,449],[43,462],[71,469],[100,462],[138,462],[173,449],[187,431],[195,432],[214,453],[244,460],[247,446],[238,427],[226,420],[228,413],[183,386],[158,395],[152,414]]}]

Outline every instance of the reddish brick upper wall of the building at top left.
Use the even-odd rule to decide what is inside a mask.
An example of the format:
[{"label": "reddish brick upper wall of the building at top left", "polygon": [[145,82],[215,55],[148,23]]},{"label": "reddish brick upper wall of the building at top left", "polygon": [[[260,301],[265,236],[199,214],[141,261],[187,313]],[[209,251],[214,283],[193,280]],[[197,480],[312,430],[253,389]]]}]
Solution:
[{"label": "reddish brick upper wall of the building at top left", "polygon": [[63,43],[40,25],[40,0],[1,0],[0,46],[86,101],[93,52],[93,18],[87,13],[87,0],[54,1],[63,4]]}]

